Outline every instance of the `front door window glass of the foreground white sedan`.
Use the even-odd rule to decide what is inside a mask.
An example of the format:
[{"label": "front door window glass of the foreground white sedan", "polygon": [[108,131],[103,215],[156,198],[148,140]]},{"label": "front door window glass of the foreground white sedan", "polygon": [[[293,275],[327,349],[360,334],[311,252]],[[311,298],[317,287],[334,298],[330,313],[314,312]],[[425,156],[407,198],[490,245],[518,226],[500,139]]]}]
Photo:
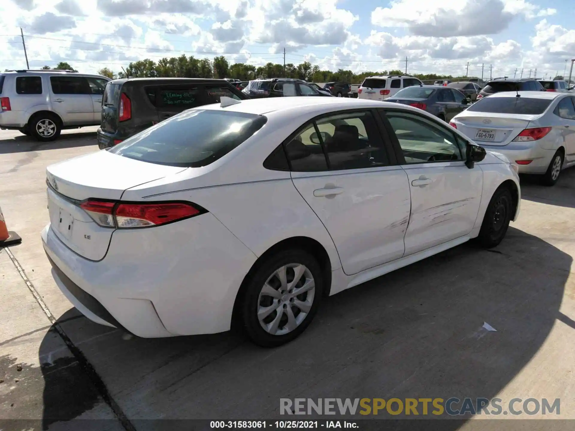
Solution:
[{"label": "front door window glass of the foreground white sedan", "polygon": [[399,141],[405,163],[463,160],[453,133],[414,114],[386,113]]}]

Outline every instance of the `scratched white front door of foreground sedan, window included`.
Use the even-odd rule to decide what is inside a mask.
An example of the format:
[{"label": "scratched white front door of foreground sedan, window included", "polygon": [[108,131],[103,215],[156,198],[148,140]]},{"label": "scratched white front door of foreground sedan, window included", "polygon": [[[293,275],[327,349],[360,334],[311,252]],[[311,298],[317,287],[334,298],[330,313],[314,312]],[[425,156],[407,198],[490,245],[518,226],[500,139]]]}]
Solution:
[{"label": "scratched white front door of foreground sedan, window included", "polygon": [[448,126],[419,114],[386,110],[385,118],[411,190],[405,256],[469,234],[483,172],[465,166],[465,143]]}]

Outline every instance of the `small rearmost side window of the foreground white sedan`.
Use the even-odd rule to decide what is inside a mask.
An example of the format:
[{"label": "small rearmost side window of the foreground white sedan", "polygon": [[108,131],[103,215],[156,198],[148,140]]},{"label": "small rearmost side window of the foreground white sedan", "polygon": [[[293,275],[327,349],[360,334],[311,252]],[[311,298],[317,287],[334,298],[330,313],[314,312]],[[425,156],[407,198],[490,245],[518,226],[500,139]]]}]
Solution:
[{"label": "small rearmost side window of the foreground white sedan", "polygon": [[292,171],[328,171],[321,140],[317,136],[313,122],[285,145],[285,152],[292,165]]}]

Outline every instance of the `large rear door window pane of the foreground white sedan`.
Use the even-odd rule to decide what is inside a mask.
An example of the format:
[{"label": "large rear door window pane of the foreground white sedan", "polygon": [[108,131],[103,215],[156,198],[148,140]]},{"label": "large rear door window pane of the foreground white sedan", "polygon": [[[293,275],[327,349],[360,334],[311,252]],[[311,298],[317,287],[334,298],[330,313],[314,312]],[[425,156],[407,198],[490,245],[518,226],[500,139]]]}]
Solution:
[{"label": "large rear door window pane of the foreground white sedan", "polygon": [[317,121],[317,129],[320,131],[331,170],[389,165],[371,112],[321,118]]}]

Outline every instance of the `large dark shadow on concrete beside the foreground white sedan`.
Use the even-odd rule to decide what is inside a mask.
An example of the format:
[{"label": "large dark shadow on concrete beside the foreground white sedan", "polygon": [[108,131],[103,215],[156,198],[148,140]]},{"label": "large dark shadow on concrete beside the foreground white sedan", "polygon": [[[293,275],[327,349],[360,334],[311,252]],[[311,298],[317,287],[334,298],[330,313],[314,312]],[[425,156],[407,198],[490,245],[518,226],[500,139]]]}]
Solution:
[{"label": "large dark shadow on concrete beside the foreground white sedan", "polygon": [[[344,418],[281,416],[280,398],[491,399],[534,357],[555,321],[575,329],[559,312],[571,265],[568,254],[510,228],[496,249],[463,244],[324,299],[308,330],[275,349],[232,332],[137,338],[71,318],[78,313],[71,309],[58,321],[90,365],[49,363],[49,340],[40,346],[44,426],[94,405],[94,380],[86,382],[91,366],[136,429],[158,418]],[[497,332],[482,328],[484,322]],[[462,425],[393,418],[401,420],[366,421],[361,429]],[[420,411],[416,418],[430,416]],[[488,422],[490,429],[503,426]]]}]

